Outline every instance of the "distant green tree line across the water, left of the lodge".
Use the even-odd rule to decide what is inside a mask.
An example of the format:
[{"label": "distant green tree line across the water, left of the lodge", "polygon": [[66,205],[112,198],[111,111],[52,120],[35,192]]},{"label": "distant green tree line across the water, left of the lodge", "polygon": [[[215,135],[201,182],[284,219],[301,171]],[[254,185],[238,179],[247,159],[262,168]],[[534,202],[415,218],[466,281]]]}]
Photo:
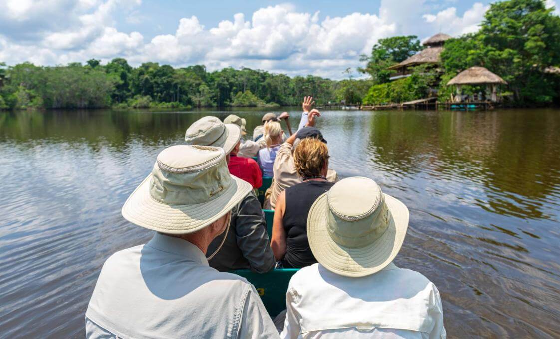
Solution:
[{"label": "distant green tree line across the water, left of the lodge", "polygon": [[143,63],[134,68],[123,58],[55,67],[2,63],[0,108],[290,106],[300,105],[301,98],[310,94],[318,104],[358,102],[369,82],[357,81],[362,83],[360,94],[354,82],[249,68],[208,72],[204,65],[173,68]]}]

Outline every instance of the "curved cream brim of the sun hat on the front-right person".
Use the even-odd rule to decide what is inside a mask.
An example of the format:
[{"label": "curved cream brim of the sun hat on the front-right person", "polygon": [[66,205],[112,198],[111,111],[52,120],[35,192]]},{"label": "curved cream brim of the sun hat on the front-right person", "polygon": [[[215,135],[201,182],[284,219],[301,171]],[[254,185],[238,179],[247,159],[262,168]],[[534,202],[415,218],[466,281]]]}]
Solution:
[{"label": "curved cream brim of the sun hat on the front-right person", "polygon": [[399,200],[384,196],[390,215],[389,227],[379,239],[358,248],[340,246],[330,237],[327,194],[315,201],[307,218],[307,237],[311,251],[321,265],[339,275],[361,277],[382,270],[394,260],[407,234],[409,213],[407,206]]}]

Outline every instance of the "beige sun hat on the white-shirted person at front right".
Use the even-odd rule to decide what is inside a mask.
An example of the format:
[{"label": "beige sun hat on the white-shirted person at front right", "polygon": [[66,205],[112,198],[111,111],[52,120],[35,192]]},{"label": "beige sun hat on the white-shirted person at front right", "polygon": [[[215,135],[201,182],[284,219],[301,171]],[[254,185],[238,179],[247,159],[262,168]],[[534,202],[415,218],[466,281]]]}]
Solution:
[{"label": "beige sun hat on the white-shirted person at front right", "polygon": [[339,275],[361,277],[389,265],[408,228],[408,209],[364,177],[340,180],[311,206],[307,237],[313,255]]}]

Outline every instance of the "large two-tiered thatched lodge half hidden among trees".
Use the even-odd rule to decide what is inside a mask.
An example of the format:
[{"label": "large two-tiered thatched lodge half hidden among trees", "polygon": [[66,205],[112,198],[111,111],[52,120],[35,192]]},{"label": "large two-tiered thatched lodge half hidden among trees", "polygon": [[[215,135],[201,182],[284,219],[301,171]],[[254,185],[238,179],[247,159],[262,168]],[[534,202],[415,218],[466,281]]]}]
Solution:
[{"label": "large two-tiered thatched lodge half hidden among trees", "polygon": [[444,43],[446,40],[451,39],[451,36],[443,33],[438,33],[422,43],[426,46],[425,49],[414,54],[412,57],[403,60],[396,65],[389,67],[389,69],[395,69],[396,74],[390,77],[391,80],[396,80],[400,78],[405,78],[410,76],[408,68],[422,65],[422,64],[434,64],[440,63],[440,54],[444,50]]}]

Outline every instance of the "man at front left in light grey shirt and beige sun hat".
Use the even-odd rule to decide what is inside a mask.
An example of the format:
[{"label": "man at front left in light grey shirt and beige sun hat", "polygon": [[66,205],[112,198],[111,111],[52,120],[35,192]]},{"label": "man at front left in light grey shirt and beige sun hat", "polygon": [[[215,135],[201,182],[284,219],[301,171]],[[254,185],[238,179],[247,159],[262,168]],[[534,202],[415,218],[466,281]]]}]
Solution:
[{"label": "man at front left in light grey shirt and beige sun hat", "polygon": [[212,269],[206,257],[250,190],[230,175],[220,147],[162,150],[122,209],[129,222],[156,233],[105,262],[87,308],[86,336],[277,337],[254,286]]}]

